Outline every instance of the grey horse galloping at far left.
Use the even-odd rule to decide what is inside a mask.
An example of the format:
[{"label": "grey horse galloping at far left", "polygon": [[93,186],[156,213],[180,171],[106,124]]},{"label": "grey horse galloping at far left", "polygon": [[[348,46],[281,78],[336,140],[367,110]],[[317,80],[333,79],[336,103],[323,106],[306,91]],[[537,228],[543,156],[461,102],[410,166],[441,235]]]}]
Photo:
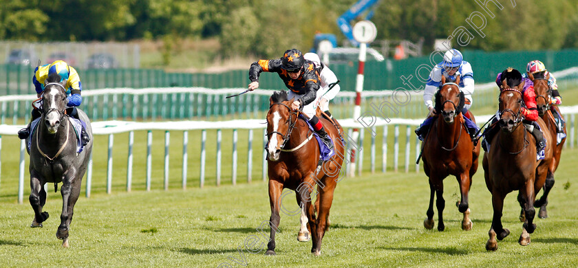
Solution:
[{"label": "grey horse galloping at far left", "polygon": [[30,227],[42,227],[48,219],[48,212],[42,208],[46,203],[44,183],[62,182],[62,214],[56,237],[68,247],[68,230],[72,221],[74,204],[81,192],[81,182],[92,152],[92,128],[89,119],[81,109],[78,116],[86,123],[90,140],[81,153],[76,153],[77,137],[69,122],[66,109],[66,80],[59,82],[58,74],[51,74],[46,80],[42,94],[41,118],[36,131],[30,136],[30,205],[34,210],[34,220]]}]

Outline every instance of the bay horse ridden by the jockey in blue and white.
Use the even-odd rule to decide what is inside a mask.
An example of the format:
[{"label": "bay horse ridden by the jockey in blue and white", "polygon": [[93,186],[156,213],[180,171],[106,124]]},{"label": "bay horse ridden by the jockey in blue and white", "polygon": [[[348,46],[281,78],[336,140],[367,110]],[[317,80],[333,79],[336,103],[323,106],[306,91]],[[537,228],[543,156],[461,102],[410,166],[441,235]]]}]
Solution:
[{"label": "bay horse ridden by the jockey in blue and white", "polygon": [[[443,211],[445,200],[443,197],[443,180],[449,175],[458,179],[461,199],[458,210],[464,214],[462,230],[471,230],[472,222],[469,219],[468,193],[471,187],[471,177],[478,170],[478,155],[480,144],[474,145],[464,125],[462,108],[464,107],[464,93],[458,87],[460,76],[456,82],[446,82],[442,77],[442,88],[436,93],[436,111],[438,118],[431,126],[427,137],[422,144],[423,170],[429,177],[429,207],[427,219],[423,222],[426,229],[434,227],[434,192],[437,195],[438,231],[445,229]],[[475,118],[471,115],[471,120]]]}]

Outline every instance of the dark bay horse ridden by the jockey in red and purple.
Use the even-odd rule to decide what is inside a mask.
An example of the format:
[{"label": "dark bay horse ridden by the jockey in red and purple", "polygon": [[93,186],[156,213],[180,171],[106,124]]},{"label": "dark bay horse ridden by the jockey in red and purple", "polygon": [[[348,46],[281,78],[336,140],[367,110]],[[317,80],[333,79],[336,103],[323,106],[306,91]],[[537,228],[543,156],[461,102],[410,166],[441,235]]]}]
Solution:
[{"label": "dark bay horse ridden by the jockey in red and purple", "polygon": [[498,124],[501,131],[493,137],[489,153],[484,153],[482,166],[486,186],[492,194],[493,219],[488,232],[489,239],[486,250],[497,249],[496,238],[500,241],[510,234],[510,231],[502,226],[502,210],[506,194],[513,190],[519,190],[518,201],[525,214],[522,234],[518,243],[530,244],[530,234],[536,229],[533,223],[535,216],[534,202],[536,194],[544,186],[548,166],[553,158],[553,138],[546,128],[544,120],[538,118],[537,122],[544,132],[546,139],[545,157],[536,161],[536,141],[533,135],[528,134],[522,120],[521,90],[524,81],[514,85],[508,78],[502,82],[499,97],[500,120]]}]

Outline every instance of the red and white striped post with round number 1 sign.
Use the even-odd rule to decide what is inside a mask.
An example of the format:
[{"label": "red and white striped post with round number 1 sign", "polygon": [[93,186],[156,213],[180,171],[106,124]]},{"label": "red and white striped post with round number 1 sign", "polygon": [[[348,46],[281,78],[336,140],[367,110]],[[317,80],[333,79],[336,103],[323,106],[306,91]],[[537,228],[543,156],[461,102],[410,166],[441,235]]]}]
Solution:
[{"label": "red and white striped post with round number 1 sign", "polygon": [[[355,82],[355,108],[353,109],[353,119],[357,120],[361,116],[361,91],[363,91],[363,69],[365,68],[365,58],[367,43],[372,43],[377,35],[377,28],[371,21],[359,21],[355,23],[352,30],[353,37],[359,42],[359,64],[357,68],[357,79]],[[353,129],[352,140],[358,142],[359,129]],[[360,144],[361,145],[361,144]],[[355,175],[355,149],[351,149],[350,176]],[[361,164],[359,165],[362,166]],[[361,170],[359,170],[361,173]]]}]

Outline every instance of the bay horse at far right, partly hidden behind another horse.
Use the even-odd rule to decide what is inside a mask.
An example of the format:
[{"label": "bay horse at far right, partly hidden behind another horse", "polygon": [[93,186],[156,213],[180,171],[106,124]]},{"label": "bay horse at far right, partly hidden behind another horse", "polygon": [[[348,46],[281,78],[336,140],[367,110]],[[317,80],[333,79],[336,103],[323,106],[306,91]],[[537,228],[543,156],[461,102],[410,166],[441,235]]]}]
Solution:
[{"label": "bay horse at far right, partly hidden behind another horse", "polygon": [[[536,93],[536,104],[538,107],[538,114],[542,120],[546,123],[546,127],[550,131],[550,135],[552,135],[554,142],[557,142],[557,126],[556,120],[552,114],[550,109],[556,109],[557,113],[560,115],[561,118],[562,114],[560,110],[557,109],[556,106],[550,107],[550,98],[551,90],[550,86],[548,86],[548,79],[550,78],[550,74],[548,73],[544,76],[544,71],[540,71],[535,74],[529,74],[528,78],[534,82],[534,91]],[[564,126],[564,133],[566,133],[566,126]],[[547,218],[548,217],[548,210],[546,210],[546,205],[548,205],[548,193],[554,186],[554,172],[558,168],[560,164],[560,157],[562,155],[562,148],[564,146],[564,142],[566,142],[566,137],[561,139],[560,144],[556,145],[554,150],[554,158],[552,159],[552,163],[548,166],[548,176],[546,177],[546,183],[544,183],[544,193],[540,199],[536,200],[534,206],[536,208],[540,208],[538,212],[539,218]]]}]

